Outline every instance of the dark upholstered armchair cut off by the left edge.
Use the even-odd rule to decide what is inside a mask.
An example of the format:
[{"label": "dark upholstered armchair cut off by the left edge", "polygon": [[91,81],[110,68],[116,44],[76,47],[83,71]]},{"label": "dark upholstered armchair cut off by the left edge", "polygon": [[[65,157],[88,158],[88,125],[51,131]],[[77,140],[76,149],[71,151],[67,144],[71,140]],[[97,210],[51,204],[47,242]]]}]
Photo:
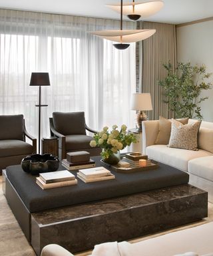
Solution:
[{"label": "dark upholstered armchair cut off by the left edge", "polygon": [[[25,137],[33,145],[26,143]],[[24,157],[36,151],[37,140],[27,133],[23,115],[0,115],[0,173],[9,165],[19,165]]]}]

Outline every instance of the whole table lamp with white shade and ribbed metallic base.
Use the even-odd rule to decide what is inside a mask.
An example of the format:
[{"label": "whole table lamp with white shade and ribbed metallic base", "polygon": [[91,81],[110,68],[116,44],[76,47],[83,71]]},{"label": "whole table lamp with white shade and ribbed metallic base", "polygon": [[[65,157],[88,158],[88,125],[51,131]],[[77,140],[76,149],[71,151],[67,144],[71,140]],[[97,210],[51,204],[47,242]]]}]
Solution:
[{"label": "whole table lamp with white shade and ribbed metallic base", "polygon": [[136,114],[136,129],[142,131],[142,121],[147,120],[144,110],[152,110],[152,100],[150,93],[133,93],[131,98],[131,109],[138,111]]}]

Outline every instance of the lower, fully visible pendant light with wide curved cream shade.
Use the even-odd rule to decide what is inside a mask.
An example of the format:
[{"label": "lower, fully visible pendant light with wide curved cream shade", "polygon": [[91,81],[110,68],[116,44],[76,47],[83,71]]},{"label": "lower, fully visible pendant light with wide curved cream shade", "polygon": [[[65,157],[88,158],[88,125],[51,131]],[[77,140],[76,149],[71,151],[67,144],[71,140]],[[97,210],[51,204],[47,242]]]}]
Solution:
[{"label": "lower, fully visible pendant light with wide curved cream shade", "polygon": [[91,34],[105,38],[110,41],[115,41],[114,47],[119,50],[124,50],[129,47],[129,43],[142,41],[151,35],[153,35],[155,29],[122,29],[122,0],[120,0],[120,29],[119,30],[105,30],[105,31],[93,31]]}]

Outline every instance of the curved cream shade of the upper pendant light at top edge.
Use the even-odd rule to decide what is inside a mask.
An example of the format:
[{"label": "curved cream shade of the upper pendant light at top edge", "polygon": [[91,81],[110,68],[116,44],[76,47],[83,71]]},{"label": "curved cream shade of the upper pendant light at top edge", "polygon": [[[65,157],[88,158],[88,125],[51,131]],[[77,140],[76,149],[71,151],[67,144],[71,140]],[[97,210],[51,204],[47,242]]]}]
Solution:
[{"label": "curved cream shade of the upper pendant light at top edge", "polygon": [[[144,1],[140,3],[124,3],[122,6],[122,13],[124,15],[129,15],[133,13],[133,5],[134,5],[134,14],[141,15],[142,18],[148,17],[150,15],[154,15],[164,6],[163,1]],[[112,10],[120,13],[120,4],[116,5],[107,5]]]}]

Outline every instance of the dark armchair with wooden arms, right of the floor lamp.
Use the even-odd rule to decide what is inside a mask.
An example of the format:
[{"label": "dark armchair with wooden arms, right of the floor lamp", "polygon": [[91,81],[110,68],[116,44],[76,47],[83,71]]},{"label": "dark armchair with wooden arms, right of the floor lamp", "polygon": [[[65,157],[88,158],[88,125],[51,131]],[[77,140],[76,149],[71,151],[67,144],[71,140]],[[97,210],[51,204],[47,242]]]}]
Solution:
[{"label": "dark armchair with wooden arms, right of the floor lamp", "polygon": [[84,112],[53,112],[53,117],[49,119],[51,136],[59,139],[59,159],[65,159],[67,152],[88,151],[91,156],[100,155],[99,147],[92,148],[89,143],[93,137],[86,133],[96,133],[87,127]]}]

